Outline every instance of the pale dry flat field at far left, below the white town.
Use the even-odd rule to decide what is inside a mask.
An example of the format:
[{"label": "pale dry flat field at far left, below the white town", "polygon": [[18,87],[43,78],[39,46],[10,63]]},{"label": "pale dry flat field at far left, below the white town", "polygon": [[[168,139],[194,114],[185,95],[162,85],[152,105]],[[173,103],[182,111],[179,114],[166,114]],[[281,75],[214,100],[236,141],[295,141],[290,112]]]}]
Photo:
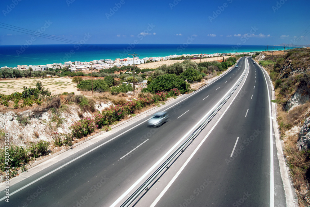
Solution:
[{"label": "pale dry flat field at far left, below the white town", "polygon": [[76,84],[72,83],[71,78],[18,78],[18,79],[0,79],[0,93],[9,95],[11,93],[23,92],[23,86],[27,88],[36,88],[37,81],[43,83],[44,88],[48,88],[52,94],[61,94],[64,92],[74,92],[76,95],[80,94],[77,90]]}]

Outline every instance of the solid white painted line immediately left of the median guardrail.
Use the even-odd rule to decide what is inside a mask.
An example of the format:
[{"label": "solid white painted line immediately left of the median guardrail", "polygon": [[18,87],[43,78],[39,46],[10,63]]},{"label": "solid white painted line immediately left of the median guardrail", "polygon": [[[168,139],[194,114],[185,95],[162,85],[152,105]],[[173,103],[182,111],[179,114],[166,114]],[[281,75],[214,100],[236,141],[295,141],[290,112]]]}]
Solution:
[{"label": "solid white painted line immediately left of the median guardrail", "polygon": [[[244,72],[246,73],[246,69],[244,70]],[[227,73],[226,73],[227,74]],[[249,74],[249,73],[248,73]],[[247,75],[246,75],[247,77]],[[150,169],[148,169],[130,188],[128,188],[126,190],[126,192],[124,192],[116,201],[114,201],[114,203],[112,205],[110,205],[110,207],[114,207],[116,206],[119,202],[122,201],[122,199],[124,197],[126,197],[128,195],[128,193],[130,193],[148,174],[150,174],[152,172],[152,170],[154,170],[154,168],[156,166],[158,166],[177,146],[179,146],[179,144],[181,144],[181,142],[188,137],[188,135],[190,134],[190,132],[192,132],[198,125],[199,123],[201,123],[204,119],[206,119],[206,117],[223,101],[223,99],[225,97],[227,97],[227,95],[232,91],[232,89],[236,86],[236,84],[241,80],[242,78],[242,74],[240,76],[240,78],[236,81],[235,84],[233,84],[233,86],[228,90],[228,92],[221,98],[221,100],[219,100],[219,102],[217,102],[215,104],[215,106],[213,106],[213,108],[206,113],[206,115],[204,117],[202,117],[196,124],[195,126],[193,126],[171,149],[168,150],[168,152],[166,152],[166,154],[164,154]],[[243,86],[243,84],[242,84]],[[241,89],[240,89],[241,90]],[[238,91],[238,93],[240,92],[240,90]],[[237,95],[236,95],[237,96]],[[5,197],[4,197],[5,198]],[[4,199],[3,198],[3,199]]]}]

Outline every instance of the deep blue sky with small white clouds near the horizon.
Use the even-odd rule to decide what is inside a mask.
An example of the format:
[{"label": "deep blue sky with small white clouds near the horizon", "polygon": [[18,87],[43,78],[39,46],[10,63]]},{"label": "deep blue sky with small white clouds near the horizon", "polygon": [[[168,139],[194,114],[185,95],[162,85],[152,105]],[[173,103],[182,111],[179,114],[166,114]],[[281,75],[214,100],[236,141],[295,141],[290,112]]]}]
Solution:
[{"label": "deep blue sky with small white clouds near the horizon", "polygon": [[[277,45],[291,43],[310,25],[308,0],[1,2],[0,23],[73,41],[87,36],[87,44],[182,44],[192,38],[193,44]],[[0,28],[0,45],[25,44],[31,37]],[[308,36],[298,40],[310,44]],[[36,37],[32,44],[64,43]]]}]

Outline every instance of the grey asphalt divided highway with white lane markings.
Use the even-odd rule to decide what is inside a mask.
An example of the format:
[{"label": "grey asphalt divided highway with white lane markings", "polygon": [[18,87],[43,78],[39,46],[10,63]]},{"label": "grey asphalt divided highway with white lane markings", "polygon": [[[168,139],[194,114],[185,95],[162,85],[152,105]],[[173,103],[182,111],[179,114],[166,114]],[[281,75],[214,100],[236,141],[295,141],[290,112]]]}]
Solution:
[{"label": "grey asphalt divided highway with white lane markings", "polygon": [[[285,206],[278,167],[270,167],[273,161],[277,163],[277,156],[271,162],[270,149],[277,152],[270,145],[265,74],[247,59],[241,58],[238,68],[206,87],[114,129],[85,149],[73,149],[73,156],[15,183],[10,186],[10,203],[2,199],[1,206],[120,206],[210,114],[243,73],[234,101],[223,106],[136,205],[268,206],[270,195],[276,194],[275,206]],[[146,121],[158,110],[168,111],[170,120],[158,128],[148,127]],[[277,175],[272,182],[276,193],[271,190],[275,189],[271,172]]]}]

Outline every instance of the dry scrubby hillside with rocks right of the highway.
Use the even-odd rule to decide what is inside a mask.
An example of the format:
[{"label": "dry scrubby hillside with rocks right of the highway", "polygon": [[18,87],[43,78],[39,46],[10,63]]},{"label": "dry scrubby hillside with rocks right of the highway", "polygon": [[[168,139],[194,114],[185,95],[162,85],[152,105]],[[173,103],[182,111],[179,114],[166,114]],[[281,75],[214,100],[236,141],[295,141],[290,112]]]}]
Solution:
[{"label": "dry scrubby hillside with rocks right of the highway", "polygon": [[310,150],[299,150],[299,132],[295,130],[310,116],[310,101],[287,110],[287,103],[297,90],[301,89],[303,95],[310,92],[310,49],[288,50],[284,57],[266,55],[259,64],[268,71],[275,88],[276,99],[272,102],[277,103],[277,121],[299,206],[310,206]]}]

